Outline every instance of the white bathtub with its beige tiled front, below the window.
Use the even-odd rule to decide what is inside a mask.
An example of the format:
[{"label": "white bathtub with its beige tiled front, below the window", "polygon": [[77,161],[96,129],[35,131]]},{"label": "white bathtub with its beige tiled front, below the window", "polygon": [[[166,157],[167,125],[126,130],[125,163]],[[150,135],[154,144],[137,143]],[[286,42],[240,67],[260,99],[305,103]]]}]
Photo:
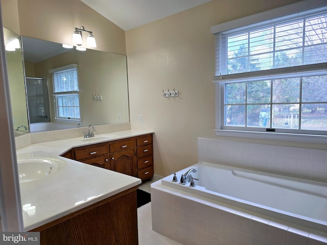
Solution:
[{"label": "white bathtub with its beige tiled front, below the window", "polygon": [[326,183],[204,162],[177,179],[190,168],[196,187],[151,185],[153,230],[183,244],[327,244]]}]

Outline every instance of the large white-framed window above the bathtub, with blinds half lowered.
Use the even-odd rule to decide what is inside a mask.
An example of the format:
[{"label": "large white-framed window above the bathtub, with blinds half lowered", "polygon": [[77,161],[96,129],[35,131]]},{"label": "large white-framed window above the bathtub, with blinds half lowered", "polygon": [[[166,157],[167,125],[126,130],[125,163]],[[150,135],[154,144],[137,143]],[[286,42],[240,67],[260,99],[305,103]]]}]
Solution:
[{"label": "large white-framed window above the bathtub, with blinds half lowered", "polygon": [[216,35],[217,131],[327,135],[327,8]]}]

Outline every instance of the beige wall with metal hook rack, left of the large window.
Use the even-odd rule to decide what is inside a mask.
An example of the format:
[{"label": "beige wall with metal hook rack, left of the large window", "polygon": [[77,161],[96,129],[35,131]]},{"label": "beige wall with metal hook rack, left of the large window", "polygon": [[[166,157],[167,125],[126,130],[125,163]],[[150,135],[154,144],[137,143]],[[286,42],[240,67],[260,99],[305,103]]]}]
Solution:
[{"label": "beige wall with metal hook rack, left of the large window", "polygon": [[[218,138],[211,26],[294,2],[213,0],[126,32],[131,127],[154,130],[155,174],[196,163],[197,138]],[[179,97],[164,98],[167,89],[179,90]],[[138,122],[139,114],[144,122]]]}]

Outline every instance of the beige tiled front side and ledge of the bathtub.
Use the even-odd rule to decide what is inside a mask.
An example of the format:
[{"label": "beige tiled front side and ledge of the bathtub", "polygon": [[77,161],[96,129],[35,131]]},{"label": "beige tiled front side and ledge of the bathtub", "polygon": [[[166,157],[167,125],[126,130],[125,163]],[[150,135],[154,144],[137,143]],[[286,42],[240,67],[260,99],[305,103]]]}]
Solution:
[{"label": "beige tiled front side and ledge of the bathtub", "polygon": [[[182,244],[327,245],[327,234],[151,184],[152,229]],[[172,211],[173,210],[173,211]]]}]

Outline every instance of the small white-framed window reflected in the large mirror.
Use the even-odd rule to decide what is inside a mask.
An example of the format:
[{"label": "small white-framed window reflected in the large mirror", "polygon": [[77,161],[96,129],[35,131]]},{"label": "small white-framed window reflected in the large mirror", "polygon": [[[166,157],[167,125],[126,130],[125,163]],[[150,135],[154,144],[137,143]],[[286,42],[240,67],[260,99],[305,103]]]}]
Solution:
[{"label": "small white-framed window reflected in the large mirror", "polygon": [[57,119],[79,120],[79,88],[77,65],[59,67],[53,74],[53,92]]}]

